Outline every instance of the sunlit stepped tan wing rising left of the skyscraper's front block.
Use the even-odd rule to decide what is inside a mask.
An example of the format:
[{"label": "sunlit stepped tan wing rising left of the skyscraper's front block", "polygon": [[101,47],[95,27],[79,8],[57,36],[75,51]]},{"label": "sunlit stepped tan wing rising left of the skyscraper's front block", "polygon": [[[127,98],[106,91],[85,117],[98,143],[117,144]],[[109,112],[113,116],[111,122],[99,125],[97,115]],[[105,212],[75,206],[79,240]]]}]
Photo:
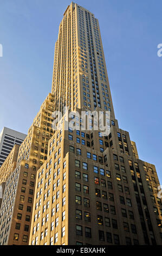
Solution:
[{"label": "sunlit stepped tan wing rising left of the skyscraper's front block", "polygon": [[[53,95],[49,94],[18,150],[15,169],[5,175],[0,211],[1,245],[28,245],[36,171],[47,159],[48,141],[53,135],[50,128],[53,105]],[[7,171],[12,164],[9,157],[4,162]],[[4,172],[0,173],[0,180],[3,177]]]}]

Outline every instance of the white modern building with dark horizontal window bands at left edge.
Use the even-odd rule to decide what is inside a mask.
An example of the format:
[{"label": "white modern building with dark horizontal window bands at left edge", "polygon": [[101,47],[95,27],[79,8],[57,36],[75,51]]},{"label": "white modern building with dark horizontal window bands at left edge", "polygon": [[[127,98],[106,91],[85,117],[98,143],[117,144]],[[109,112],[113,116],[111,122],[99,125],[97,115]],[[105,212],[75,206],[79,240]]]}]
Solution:
[{"label": "white modern building with dark horizontal window bands at left edge", "polygon": [[5,159],[7,159],[7,156],[10,154],[14,145],[21,145],[25,137],[27,137],[27,135],[24,133],[14,131],[7,127],[3,128],[0,133],[0,167],[4,163]]}]

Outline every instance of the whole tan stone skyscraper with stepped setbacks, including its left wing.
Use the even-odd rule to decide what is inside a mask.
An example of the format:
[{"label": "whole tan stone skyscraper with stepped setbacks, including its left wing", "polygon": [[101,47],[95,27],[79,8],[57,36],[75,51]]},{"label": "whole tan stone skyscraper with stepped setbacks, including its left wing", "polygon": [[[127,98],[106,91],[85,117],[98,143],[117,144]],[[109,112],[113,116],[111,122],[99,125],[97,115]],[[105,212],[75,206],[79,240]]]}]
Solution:
[{"label": "whole tan stone skyscraper with stepped setbacks, including its left wing", "polygon": [[[55,111],[62,114],[60,130]],[[110,126],[104,136],[94,129],[94,111]],[[90,116],[86,130],[82,112]],[[139,159],[115,119],[99,22],[72,2],[55,44],[51,94],[6,180],[0,242],[161,245],[158,186],[154,165]]]}]

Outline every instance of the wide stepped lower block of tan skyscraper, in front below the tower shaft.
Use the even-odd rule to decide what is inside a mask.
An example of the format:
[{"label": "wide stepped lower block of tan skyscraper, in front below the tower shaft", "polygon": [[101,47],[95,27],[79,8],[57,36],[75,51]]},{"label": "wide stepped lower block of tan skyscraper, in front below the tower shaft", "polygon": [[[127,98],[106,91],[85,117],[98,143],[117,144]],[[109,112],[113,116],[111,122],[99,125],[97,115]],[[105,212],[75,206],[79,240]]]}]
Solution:
[{"label": "wide stepped lower block of tan skyscraper, in front below the tower shaft", "polygon": [[[100,139],[103,153],[95,149]],[[115,126],[107,138],[56,131],[37,172],[29,244],[160,245],[158,176],[134,152],[128,132]]]}]

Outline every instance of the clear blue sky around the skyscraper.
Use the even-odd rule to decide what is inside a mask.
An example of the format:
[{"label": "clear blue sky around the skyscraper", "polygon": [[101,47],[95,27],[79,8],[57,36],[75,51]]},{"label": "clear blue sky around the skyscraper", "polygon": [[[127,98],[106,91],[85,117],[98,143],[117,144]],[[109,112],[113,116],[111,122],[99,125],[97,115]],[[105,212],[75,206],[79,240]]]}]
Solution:
[{"label": "clear blue sky around the skyscraper", "polygon": [[[75,1],[74,1],[75,2]],[[155,164],[162,185],[161,0],[78,0],[99,19],[119,127]],[[51,92],[54,45],[70,1],[0,0],[0,130],[27,133]]]}]

